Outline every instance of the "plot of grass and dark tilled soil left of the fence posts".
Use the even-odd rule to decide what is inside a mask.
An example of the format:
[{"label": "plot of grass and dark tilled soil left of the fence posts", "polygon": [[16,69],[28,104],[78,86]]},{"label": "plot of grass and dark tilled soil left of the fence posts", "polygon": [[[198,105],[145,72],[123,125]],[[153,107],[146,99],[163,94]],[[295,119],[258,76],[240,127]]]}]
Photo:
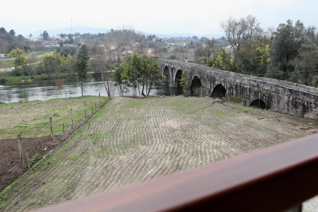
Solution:
[{"label": "plot of grass and dark tilled soil left of the fence posts", "polygon": [[[86,119],[84,101],[87,108]],[[109,98],[101,97],[101,106],[107,101]],[[73,128],[71,128],[70,108],[73,111]],[[20,167],[16,134],[21,134],[24,160],[26,161],[27,153],[32,166],[43,159],[50,150],[61,145],[74,129],[99,110],[97,96],[0,104],[0,191],[27,170],[32,172],[36,169],[29,169],[26,162],[25,167]],[[53,120],[54,141],[50,135],[49,117]]]}]

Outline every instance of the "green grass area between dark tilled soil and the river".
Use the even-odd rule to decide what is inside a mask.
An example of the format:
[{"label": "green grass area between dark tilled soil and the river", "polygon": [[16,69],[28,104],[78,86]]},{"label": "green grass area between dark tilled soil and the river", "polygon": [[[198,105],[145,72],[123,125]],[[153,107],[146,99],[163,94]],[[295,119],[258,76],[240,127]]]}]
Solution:
[{"label": "green grass area between dark tilled soil and the river", "polygon": [[[107,97],[102,97],[104,105]],[[50,135],[49,117],[52,116],[54,134],[59,135],[71,125],[70,108],[73,110],[73,123],[84,118],[84,101],[86,101],[87,115],[98,110],[98,96],[71,97],[66,99],[51,99],[48,101],[23,101],[14,103],[0,103],[0,140],[16,138],[21,134],[23,138]]]}]

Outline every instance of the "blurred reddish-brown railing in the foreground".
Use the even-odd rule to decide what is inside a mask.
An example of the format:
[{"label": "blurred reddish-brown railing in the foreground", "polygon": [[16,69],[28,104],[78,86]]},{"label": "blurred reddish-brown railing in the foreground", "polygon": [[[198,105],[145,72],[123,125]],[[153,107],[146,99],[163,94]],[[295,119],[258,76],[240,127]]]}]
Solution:
[{"label": "blurred reddish-brown railing in the foreground", "polygon": [[284,211],[318,195],[318,135],[40,211]]}]

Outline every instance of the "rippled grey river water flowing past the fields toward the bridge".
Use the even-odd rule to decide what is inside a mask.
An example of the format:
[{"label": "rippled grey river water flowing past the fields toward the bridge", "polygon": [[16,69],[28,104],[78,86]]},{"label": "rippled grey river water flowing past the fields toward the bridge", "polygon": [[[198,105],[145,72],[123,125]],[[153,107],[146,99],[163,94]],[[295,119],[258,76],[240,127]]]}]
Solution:
[{"label": "rippled grey river water flowing past the fields toward the bridge", "polygon": [[[81,96],[81,88],[76,84],[74,79],[62,79],[64,88],[62,89],[62,97],[77,97]],[[67,85],[72,84],[72,85]],[[40,85],[40,86],[39,86]],[[0,85],[0,102],[10,103],[19,101],[31,101],[31,100],[49,100],[54,98],[61,98],[61,93],[56,90],[55,80],[40,80],[34,83],[27,81],[20,81],[16,83],[6,83]],[[119,91],[114,83],[110,83],[113,91],[113,96],[119,96]],[[30,87],[22,87],[30,86]],[[34,86],[34,87],[31,87]],[[38,86],[38,87],[36,87]],[[16,88],[20,87],[20,88]],[[100,78],[87,79],[85,85],[83,85],[84,95],[97,95],[100,93],[101,96],[107,96],[106,89]],[[138,91],[137,91],[138,92]],[[183,88],[170,88],[168,83],[164,85],[154,83],[150,91],[152,96],[171,96],[183,94]],[[125,94],[126,96],[133,95],[132,89]],[[139,95],[139,94],[138,94]]]}]

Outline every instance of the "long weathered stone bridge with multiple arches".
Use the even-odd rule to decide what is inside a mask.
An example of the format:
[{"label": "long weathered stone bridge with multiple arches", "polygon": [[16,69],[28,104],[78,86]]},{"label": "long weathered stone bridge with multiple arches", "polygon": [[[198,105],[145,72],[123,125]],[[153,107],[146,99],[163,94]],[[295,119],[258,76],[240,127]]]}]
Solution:
[{"label": "long weathered stone bridge with multiple arches", "polygon": [[192,96],[229,98],[245,106],[256,106],[305,118],[318,118],[318,88],[292,82],[256,77],[177,60],[159,59],[165,82],[181,87],[184,70],[191,86],[184,93]]}]

